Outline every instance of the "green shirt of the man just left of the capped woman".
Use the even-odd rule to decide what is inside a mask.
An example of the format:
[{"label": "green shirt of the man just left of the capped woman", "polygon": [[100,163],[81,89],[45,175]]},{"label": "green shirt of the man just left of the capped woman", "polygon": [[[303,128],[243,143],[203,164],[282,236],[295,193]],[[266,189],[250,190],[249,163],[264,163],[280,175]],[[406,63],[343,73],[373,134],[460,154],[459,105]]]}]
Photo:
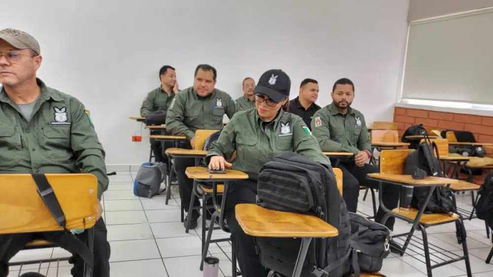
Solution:
[{"label": "green shirt of the man just left of the capped woman", "polygon": [[197,130],[221,130],[223,116],[230,119],[236,105],[229,94],[214,89],[207,97],[200,97],[189,87],[180,91],[166,116],[166,130],[175,136],[192,139]]}]

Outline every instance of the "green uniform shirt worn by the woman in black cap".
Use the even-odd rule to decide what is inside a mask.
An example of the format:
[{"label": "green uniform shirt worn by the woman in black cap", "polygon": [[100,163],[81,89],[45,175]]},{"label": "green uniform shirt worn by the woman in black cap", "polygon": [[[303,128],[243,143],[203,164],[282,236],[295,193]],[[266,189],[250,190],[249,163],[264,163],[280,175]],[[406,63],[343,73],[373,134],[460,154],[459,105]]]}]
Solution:
[{"label": "green uniform shirt worn by the woman in black cap", "polygon": [[235,114],[219,138],[211,143],[206,162],[209,164],[211,156],[229,159],[235,150],[232,169],[243,171],[252,179],[257,178],[263,164],[284,151],[330,164],[301,117],[283,110],[269,123],[258,117],[256,109]]}]

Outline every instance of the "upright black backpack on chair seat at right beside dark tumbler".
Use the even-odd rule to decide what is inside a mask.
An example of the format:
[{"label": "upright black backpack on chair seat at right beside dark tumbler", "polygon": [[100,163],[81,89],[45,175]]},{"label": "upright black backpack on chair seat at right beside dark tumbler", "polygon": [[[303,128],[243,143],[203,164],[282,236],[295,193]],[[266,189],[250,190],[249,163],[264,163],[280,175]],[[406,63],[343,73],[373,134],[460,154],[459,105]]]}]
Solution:
[{"label": "upright black backpack on chair seat at right beside dark tumbler", "polygon": [[[434,153],[436,153],[436,157]],[[425,137],[425,141],[420,143],[416,150],[407,155],[405,173],[414,175],[418,169],[424,171],[426,176],[444,177],[440,168],[438,147],[427,136]],[[429,187],[414,187],[411,207],[418,210],[423,207],[428,193]],[[456,207],[454,207],[450,190],[443,186],[435,187],[424,209],[424,213],[449,213],[451,211],[456,212]]]}]

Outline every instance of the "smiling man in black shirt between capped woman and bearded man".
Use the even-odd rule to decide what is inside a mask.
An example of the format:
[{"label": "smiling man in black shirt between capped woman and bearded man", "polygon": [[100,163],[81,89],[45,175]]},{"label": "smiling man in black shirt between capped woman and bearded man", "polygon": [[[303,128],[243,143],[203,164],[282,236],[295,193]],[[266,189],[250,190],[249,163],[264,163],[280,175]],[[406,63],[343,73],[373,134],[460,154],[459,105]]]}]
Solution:
[{"label": "smiling man in black shirt between capped woman and bearded man", "polygon": [[300,95],[289,101],[289,112],[301,117],[310,128],[313,115],[320,106],[315,104],[318,99],[318,82],[314,79],[304,79],[300,84]]}]

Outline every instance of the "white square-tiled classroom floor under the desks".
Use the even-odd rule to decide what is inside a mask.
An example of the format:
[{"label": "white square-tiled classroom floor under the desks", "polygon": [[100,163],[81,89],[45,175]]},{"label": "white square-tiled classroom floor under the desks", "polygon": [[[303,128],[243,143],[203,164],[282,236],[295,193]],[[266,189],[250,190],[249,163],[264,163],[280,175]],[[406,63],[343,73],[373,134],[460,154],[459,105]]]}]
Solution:
[{"label": "white square-tiled classroom floor under the desks", "polygon": [[[185,234],[180,222],[180,210],[177,187],[172,189],[173,199],[165,205],[165,195],[152,199],[140,199],[133,195],[133,176],[135,173],[119,172],[109,176],[110,184],[104,194],[104,217],[108,229],[108,241],[111,245],[111,276],[112,277],[201,277],[199,270],[201,235],[200,221],[196,230]],[[360,195],[358,211],[371,213],[370,194],[366,201]],[[467,208],[470,204],[469,195],[458,196],[460,205]],[[470,208],[469,208],[470,209]],[[150,226],[150,228],[149,228]],[[486,238],[483,221],[473,219],[465,221],[468,231],[467,244],[470,253],[471,268],[474,277],[492,277],[493,263],[485,263],[486,256],[492,245]],[[395,232],[408,231],[410,225],[397,221]],[[447,250],[461,253],[461,245],[457,244],[455,225],[448,224],[429,228],[429,242]],[[418,233],[417,233],[418,234]],[[227,234],[220,230],[214,231],[214,237]],[[421,237],[421,235],[419,235]],[[412,248],[412,247],[411,247]],[[387,277],[425,277],[425,265],[417,259],[423,259],[423,251],[409,252],[403,257],[390,254],[384,261],[382,273]],[[221,277],[231,276],[231,245],[221,242],[210,246],[210,252],[220,260]],[[433,252],[433,251],[432,251]],[[436,252],[436,251],[435,251]],[[49,257],[64,257],[67,252],[62,249],[38,249],[21,251],[12,261],[35,260]],[[414,256],[414,257],[412,257]],[[38,265],[24,266],[21,274],[37,271]],[[56,277],[56,264],[42,264],[39,271],[48,277]],[[70,277],[71,266],[61,262],[58,277]],[[35,270],[34,270],[35,269]],[[11,267],[9,277],[17,277],[19,267]],[[463,261],[433,270],[435,277],[458,277],[465,275]]]}]

